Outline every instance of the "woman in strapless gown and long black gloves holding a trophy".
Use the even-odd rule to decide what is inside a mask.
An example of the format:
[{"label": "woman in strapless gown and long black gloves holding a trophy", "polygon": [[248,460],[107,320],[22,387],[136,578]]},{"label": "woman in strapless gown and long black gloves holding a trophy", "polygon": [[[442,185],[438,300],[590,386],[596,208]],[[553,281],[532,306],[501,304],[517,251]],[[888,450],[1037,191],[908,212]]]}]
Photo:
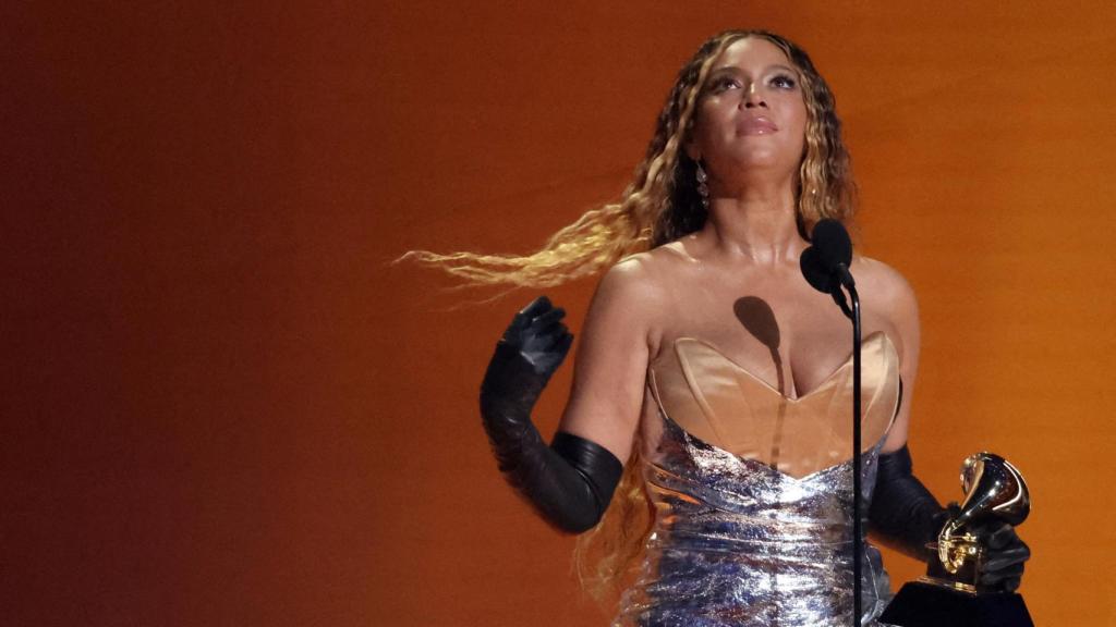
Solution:
[{"label": "woman in strapless gown and long black gloves holding a trophy", "polygon": [[[501,470],[543,518],[613,541],[605,579],[637,565],[616,624],[850,623],[848,321],[801,278],[799,255],[815,223],[849,218],[852,187],[833,96],[807,55],[769,32],[728,31],[682,69],[620,203],[530,257],[420,255],[477,282],[536,287],[615,263],[554,442],[530,411],[573,338],[545,297],[498,344],[481,412]],[[946,511],[911,474],[905,445],[914,295],[878,261],[858,257],[852,272],[869,524],[925,558]],[[1027,548],[995,531],[985,582],[1014,589]],[[870,625],[888,582],[876,549],[863,559]]]}]

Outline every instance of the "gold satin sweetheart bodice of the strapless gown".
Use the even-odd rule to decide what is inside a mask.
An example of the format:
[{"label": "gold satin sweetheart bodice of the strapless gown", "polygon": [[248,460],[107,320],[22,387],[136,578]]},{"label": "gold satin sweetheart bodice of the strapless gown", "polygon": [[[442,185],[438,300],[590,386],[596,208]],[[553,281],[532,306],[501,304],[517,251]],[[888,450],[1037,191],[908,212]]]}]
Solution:
[{"label": "gold satin sweetheart bodice of the strapless gown", "polygon": [[[878,443],[899,399],[898,356],[882,331],[860,349],[862,451]],[[664,419],[737,456],[801,479],[850,459],[853,357],[815,389],[788,398],[713,345],[681,337],[648,367]]]}]

